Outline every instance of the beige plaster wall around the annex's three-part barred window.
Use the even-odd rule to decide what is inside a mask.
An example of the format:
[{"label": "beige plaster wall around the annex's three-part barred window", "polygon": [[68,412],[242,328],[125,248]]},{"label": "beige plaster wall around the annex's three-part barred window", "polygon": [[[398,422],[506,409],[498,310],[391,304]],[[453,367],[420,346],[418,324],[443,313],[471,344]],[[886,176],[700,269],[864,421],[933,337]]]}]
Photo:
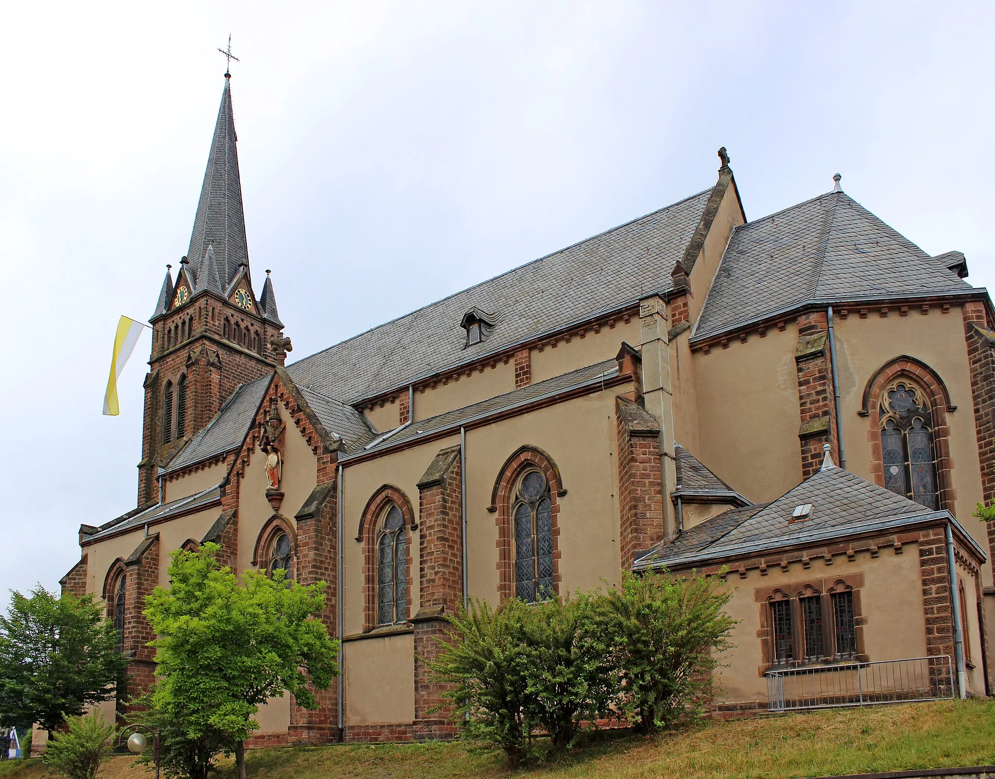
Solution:
[{"label": "beige plaster wall around the annex's three-part barred window", "polygon": [[919,575],[919,556],[914,544],[904,544],[902,553],[883,550],[874,558],[870,552],[858,552],[853,562],[840,555],[833,557],[833,564],[826,565],[822,558],[813,556],[811,567],[792,563],[787,572],[779,566],[769,566],[763,576],[754,568],[745,579],[738,573],[727,577],[735,594],[726,607],[726,613],[739,620],[732,634],[735,648],[726,652],[716,674],[721,691],[720,700],[765,700],[767,682],[760,675],[762,662],[760,629],[760,604],[754,600],[757,587],[774,587],[805,579],[831,578],[848,573],[864,573],[861,590],[865,649],[871,661],[920,658],[926,654],[925,618],[922,612],[922,583]]}]

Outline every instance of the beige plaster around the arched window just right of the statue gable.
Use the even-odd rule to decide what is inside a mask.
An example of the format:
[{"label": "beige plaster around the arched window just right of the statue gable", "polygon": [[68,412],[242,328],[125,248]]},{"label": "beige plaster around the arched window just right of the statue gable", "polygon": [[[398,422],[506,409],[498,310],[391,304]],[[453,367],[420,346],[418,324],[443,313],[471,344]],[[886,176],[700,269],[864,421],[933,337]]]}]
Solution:
[{"label": "beige plaster around the arched window just right of the statue gable", "polygon": [[[347,466],[342,478],[342,544],[345,597],[342,625],[345,635],[363,629],[363,544],[356,541],[359,520],[370,497],[384,485],[397,487],[411,501],[418,519],[418,482],[443,449],[458,446],[460,437],[451,436],[420,447],[388,454],[376,460]],[[411,532],[412,591],[409,593],[412,615],[418,611],[418,543],[419,531]]]}]

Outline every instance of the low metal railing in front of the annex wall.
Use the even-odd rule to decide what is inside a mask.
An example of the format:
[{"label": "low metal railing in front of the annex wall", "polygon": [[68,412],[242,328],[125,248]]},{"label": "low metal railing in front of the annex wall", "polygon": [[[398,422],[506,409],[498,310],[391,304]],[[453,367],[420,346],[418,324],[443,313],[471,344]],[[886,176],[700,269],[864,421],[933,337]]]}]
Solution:
[{"label": "low metal railing in front of the annex wall", "polygon": [[954,697],[949,655],[768,671],[771,711]]}]

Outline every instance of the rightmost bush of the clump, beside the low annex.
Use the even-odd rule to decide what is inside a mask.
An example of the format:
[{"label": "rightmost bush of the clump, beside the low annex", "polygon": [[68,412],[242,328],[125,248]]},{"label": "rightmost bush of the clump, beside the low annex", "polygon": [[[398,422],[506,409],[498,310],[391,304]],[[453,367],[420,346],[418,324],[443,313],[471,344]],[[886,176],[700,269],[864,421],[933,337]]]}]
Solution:
[{"label": "rightmost bush of the clump, beside the low annex", "polygon": [[621,709],[644,733],[695,716],[736,621],[721,577],[626,572],[604,596],[601,640],[619,670]]}]

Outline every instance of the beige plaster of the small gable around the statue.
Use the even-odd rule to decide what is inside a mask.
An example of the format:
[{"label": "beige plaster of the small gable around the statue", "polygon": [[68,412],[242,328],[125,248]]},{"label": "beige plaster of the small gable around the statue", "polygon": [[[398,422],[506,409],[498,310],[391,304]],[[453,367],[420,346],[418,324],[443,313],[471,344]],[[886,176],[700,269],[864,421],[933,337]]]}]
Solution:
[{"label": "beige plaster of the small gable around the statue", "polygon": [[[280,488],[284,502],[280,513],[295,526],[294,515],[317,484],[317,458],[300,435],[284,405],[279,404],[280,418],[287,426],[284,446],[284,470]],[[253,449],[246,466],[245,479],[239,488],[239,571],[252,567],[253,549],[263,525],[273,516],[273,506],[266,499],[266,456],[259,447]]]}]

